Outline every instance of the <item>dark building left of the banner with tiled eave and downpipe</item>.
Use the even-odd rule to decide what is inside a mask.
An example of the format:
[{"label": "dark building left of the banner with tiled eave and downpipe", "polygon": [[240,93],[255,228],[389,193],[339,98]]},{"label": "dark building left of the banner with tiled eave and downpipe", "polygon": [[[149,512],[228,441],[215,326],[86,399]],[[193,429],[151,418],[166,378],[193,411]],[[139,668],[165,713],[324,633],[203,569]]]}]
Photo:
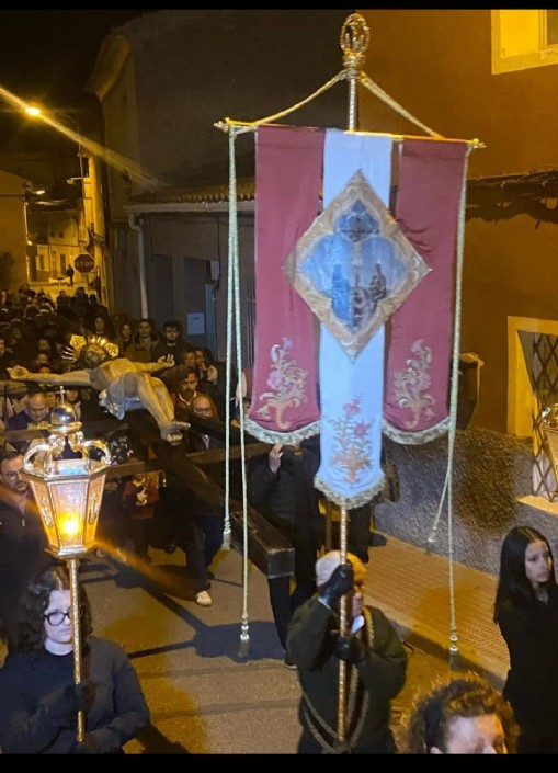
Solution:
[{"label": "dark building left of the banner with tiled eave and downpipe", "polygon": [[[296,104],[342,67],[348,11],[158,11],[114,29],[88,89],[105,127],[114,306],[226,356],[228,137],[226,116],[255,121]],[[333,46],[314,45],[316,36]],[[239,42],[241,41],[241,45]],[[281,45],[277,42],[281,41]],[[297,114],[343,126],[344,94]],[[340,99],[339,99],[340,98]],[[236,143],[237,174],[253,175],[253,135]],[[253,305],[253,196],[239,195],[241,306]],[[246,320],[246,317],[243,317]],[[242,322],[248,360],[252,328]]]}]

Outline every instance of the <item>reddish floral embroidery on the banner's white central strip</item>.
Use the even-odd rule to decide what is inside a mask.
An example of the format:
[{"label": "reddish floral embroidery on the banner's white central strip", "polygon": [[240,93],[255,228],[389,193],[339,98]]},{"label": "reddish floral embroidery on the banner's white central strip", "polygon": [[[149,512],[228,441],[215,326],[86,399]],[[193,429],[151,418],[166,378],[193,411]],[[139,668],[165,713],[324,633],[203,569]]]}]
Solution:
[{"label": "reddish floral embroidery on the banner's white central strip", "polygon": [[372,422],[361,418],[361,398],[354,397],[343,406],[343,416],[333,419],[331,465],[345,471],[348,484],[357,484],[361,473],[371,466],[372,440],[368,435]]}]

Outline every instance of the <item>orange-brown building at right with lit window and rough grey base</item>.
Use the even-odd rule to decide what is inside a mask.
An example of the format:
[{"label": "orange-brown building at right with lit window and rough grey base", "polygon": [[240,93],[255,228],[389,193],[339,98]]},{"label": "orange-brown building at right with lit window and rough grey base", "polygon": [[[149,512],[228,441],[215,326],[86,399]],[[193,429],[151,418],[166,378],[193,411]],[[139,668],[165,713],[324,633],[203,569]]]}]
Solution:
[{"label": "orange-brown building at right with lit window and rough grey base", "polygon": [[[529,523],[558,542],[540,431],[543,409],[558,399],[556,12],[361,13],[369,77],[442,136],[486,146],[469,157],[459,330],[459,351],[483,365],[476,409],[456,437],[452,523],[457,560],[496,573],[511,526]],[[420,134],[369,91],[360,95],[363,129]],[[378,525],[447,553],[447,440],[389,447],[401,499],[378,508]]]}]

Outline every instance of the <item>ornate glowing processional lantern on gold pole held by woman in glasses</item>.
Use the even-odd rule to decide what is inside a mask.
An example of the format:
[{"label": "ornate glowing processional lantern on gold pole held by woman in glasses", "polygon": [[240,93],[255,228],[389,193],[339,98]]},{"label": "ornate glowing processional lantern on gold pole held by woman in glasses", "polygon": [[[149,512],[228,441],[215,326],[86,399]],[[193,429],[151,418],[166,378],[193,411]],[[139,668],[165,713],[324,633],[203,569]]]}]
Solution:
[{"label": "ornate glowing processional lantern on gold pole held by woman in glasses", "polygon": [[[66,447],[81,454],[61,458]],[[90,452],[101,452],[92,459]],[[106,467],[111,464],[109,445],[100,440],[84,440],[73,407],[61,401],[50,416],[50,434],[46,442],[31,445],[23,457],[23,477],[29,480],[46,533],[48,552],[66,560],[70,579],[73,681],[81,682],[81,624],[79,615],[79,559],[94,547],[99,512],[103,498]],[[86,737],[86,717],[78,713],[77,740]]]}]

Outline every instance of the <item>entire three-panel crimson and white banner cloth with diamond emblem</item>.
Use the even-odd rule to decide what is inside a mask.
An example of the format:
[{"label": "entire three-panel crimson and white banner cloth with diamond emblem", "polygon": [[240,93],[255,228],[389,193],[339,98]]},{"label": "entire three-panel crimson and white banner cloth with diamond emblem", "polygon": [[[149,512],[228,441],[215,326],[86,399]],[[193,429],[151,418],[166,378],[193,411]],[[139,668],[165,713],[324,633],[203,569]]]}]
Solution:
[{"label": "entire three-panel crimson and white banner cloth with diamond emblem", "polygon": [[271,443],[319,432],[315,485],[352,509],[384,485],[382,432],[419,444],[449,427],[467,144],[405,139],[394,196],[390,137],[261,126],[255,141],[255,352],[244,425]]}]

